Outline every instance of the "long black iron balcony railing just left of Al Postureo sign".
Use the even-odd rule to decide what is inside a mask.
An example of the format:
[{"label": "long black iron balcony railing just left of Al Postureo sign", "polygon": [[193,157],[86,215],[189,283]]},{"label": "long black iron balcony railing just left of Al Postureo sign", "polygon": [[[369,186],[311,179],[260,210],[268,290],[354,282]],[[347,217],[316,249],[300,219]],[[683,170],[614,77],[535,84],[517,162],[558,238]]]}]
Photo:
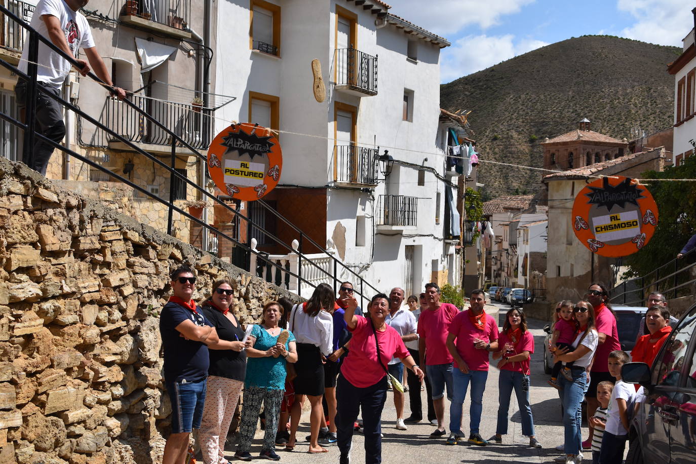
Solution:
[{"label": "long black iron balcony railing just left of Al Postureo sign", "polygon": [[[139,109],[157,119],[198,150],[207,149],[212,134],[214,118],[210,113],[200,112],[200,106],[166,102],[142,95],[132,95],[130,101]],[[109,97],[106,101],[106,125],[132,142],[171,146],[171,136],[143,117],[132,106]],[[207,126],[207,127],[206,127]]]}]

